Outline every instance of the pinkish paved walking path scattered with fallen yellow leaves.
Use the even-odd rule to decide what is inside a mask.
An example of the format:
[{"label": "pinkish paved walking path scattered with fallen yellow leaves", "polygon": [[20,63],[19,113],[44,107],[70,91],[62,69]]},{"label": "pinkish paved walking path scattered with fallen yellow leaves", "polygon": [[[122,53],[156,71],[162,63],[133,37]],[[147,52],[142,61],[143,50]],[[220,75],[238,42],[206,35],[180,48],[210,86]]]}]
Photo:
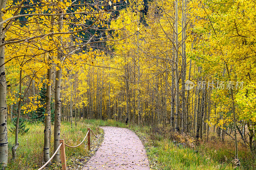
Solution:
[{"label": "pinkish paved walking path scattered with fallen yellow leaves", "polygon": [[84,170],[149,170],[148,157],[139,137],[129,129],[102,127],[104,140]]}]

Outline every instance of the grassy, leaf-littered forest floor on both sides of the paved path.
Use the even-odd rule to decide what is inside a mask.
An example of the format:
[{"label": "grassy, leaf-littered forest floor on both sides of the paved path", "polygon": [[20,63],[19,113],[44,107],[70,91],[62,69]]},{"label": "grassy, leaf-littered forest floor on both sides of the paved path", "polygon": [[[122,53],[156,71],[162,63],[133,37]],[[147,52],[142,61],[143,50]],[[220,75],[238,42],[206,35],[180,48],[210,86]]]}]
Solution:
[{"label": "grassy, leaf-littered forest floor on both sides of the paved path", "polygon": [[[35,170],[44,164],[43,145],[44,145],[44,125],[42,123],[27,123],[29,131],[19,135],[19,148],[17,150],[17,159],[11,161],[12,146],[15,141],[15,135],[9,131],[8,123],[8,150],[9,163],[6,170]],[[137,125],[125,125],[114,120],[88,120],[84,119],[73,122],[71,128],[70,122],[61,123],[61,138],[64,138],[68,145],[79,144],[90,127],[94,133],[100,137],[91,138],[91,151],[87,151],[87,141],[84,145],[77,148],[67,148],[66,158],[69,170],[81,170],[86,162],[95,154],[100,147],[104,137],[104,131],[100,126],[115,126],[128,128],[135,132],[142,141],[148,155],[150,169],[161,170],[217,170],[234,169],[233,141],[227,140],[221,142],[214,134],[209,135],[210,140],[203,140],[195,143],[192,136],[182,134],[172,134],[168,127],[151,128],[148,126],[139,127]],[[53,126],[51,136],[51,155],[53,151]],[[183,142],[185,145],[183,145]],[[181,145],[179,145],[181,143]],[[191,144],[195,145],[191,145]],[[255,170],[256,163],[248,147],[239,144],[238,157],[241,161],[241,167],[236,169]],[[60,170],[59,163],[52,163],[48,166],[49,170]]]}]

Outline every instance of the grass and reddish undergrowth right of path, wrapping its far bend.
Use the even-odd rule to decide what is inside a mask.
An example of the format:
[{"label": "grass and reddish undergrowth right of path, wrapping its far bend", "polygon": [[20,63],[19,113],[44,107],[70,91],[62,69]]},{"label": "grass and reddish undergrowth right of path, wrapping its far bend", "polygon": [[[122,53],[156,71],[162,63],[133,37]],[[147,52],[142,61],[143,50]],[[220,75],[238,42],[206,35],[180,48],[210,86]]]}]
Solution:
[{"label": "grass and reddish undergrowth right of path, wrapping its far bend", "polygon": [[156,169],[163,170],[255,170],[256,163],[247,147],[240,144],[238,157],[241,167],[236,167],[234,159],[234,142],[221,142],[214,134],[210,134],[213,140],[196,140],[194,135],[179,134],[172,131],[170,126],[163,127],[140,127],[138,125],[125,125],[114,120],[84,120],[85,123],[100,126],[116,126],[129,128],[139,132],[148,139],[148,157],[154,158]]}]

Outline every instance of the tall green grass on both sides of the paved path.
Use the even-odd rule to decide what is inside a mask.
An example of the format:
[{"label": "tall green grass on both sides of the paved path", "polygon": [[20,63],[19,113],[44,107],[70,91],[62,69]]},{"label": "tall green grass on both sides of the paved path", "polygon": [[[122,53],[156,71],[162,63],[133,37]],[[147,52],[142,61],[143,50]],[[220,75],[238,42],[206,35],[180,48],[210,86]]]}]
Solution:
[{"label": "tall green grass on both sides of the paved path", "polygon": [[[10,123],[9,123],[10,124]],[[43,145],[44,145],[44,125],[42,123],[27,124],[30,128],[28,133],[19,136],[19,148],[17,150],[17,160],[11,161],[11,148],[14,145],[15,136],[8,131],[9,139],[9,163],[7,169],[21,170],[21,169],[37,169],[44,164],[43,161]],[[147,154],[149,158],[156,161],[158,165],[164,170],[231,170],[234,169],[232,161],[232,153],[234,147],[232,143],[222,143],[218,140],[202,142],[195,149],[188,147],[177,147],[164,136],[155,134],[157,138],[152,138],[150,128],[147,126],[126,125],[115,120],[96,120],[84,119],[77,122],[77,126],[71,128],[69,122],[61,123],[61,138],[64,138],[68,145],[77,145],[87,133],[87,128],[90,127],[94,133],[99,133],[99,126],[115,126],[122,128],[129,128],[140,136],[148,139]],[[94,138],[91,138],[92,140]],[[153,139],[153,140],[152,140]],[[53,151],[53,126],[51,138],[51,151]],[[246,147],[239,147],[239,158],[242,167],[240,169],[254,170],[255,160],[252,160],[250,152]],[[67,160],[72,157],[79,157],[86,155],[87,141],[84,145],[77,148],[66,148]],[[52,153],[51,153],[52,155]],[[158,166],[159,167],[159,166]],[[57,168],[56,168],[57,169]]]}]

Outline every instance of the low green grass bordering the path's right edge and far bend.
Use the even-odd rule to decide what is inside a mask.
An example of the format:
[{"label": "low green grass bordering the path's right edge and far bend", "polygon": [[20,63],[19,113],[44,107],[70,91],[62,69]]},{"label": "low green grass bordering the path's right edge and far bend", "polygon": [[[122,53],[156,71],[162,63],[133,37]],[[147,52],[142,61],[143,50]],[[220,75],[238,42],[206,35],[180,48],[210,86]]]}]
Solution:
[{"label": "low green grass bordering the path's right edge and far bend", "polygon": [[[124,123],[116,122],[114,120],[84,120],[88,124],[96,124],[100,126],[116,126],[129,128],[134,131],[144,144],[147,151],[150,169],[162,170],[233,170],[234,166],[231,161],[223,161],[219,159],[221,155],[221,148],[217,147],[215,155],[205,153],[207,150],[199,146],[199,152],[194,149],[177,147],[172,141],[167,140],[161,135],[152,134],[150,127],[144,126],[140,128],[137,125],[128,126]],[[152,136],[154,138],[152,139]],[[218,150],[219,149],[219,150]],[[244,169],[243,167],[241,169]],[[247,168],[246,168],[247,169]],[[251,170],[251,169],[250,169]]]}]

